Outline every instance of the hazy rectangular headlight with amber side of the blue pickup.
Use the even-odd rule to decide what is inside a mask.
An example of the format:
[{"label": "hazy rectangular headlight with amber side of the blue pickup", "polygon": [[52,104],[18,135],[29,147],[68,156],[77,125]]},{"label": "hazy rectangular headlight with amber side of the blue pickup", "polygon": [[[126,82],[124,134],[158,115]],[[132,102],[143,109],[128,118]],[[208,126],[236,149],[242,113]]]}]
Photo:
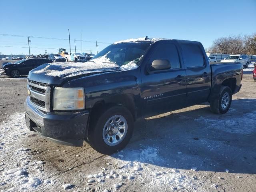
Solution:
[{"label": "hazy rectangular headlight with amber side of the blue pickup", "polygon": [[77,110],[85,108],[84,88],[54,88],[54,110]]}]

